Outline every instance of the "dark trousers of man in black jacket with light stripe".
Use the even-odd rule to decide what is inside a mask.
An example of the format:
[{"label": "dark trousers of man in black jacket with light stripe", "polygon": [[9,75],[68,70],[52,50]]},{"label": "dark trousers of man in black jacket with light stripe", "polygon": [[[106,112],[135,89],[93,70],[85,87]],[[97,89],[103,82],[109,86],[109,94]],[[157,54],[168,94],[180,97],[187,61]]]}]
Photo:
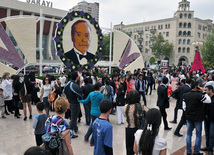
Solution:
[{"label": "dark trousers of man in black jacket with light stripe", "polygon": [[70,104],[70,109],[71,109],[71,121],[70,121],[70,128],[71,130],[74,130],[75,132],[78,131],[78,126],[77,126],[77,118],[80,113],[80,104]]}]

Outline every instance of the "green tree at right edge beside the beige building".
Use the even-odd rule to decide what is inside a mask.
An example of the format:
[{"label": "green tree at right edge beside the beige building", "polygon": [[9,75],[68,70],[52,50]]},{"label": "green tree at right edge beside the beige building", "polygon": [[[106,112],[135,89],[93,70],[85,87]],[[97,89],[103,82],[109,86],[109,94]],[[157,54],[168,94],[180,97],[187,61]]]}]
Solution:
[{"label": "green tree at right edge beside the beige building", "polygon": [[206,68],[214,66],[214,29],[206,37],[203,48],[201,50],[201,55],[203,64]]}]

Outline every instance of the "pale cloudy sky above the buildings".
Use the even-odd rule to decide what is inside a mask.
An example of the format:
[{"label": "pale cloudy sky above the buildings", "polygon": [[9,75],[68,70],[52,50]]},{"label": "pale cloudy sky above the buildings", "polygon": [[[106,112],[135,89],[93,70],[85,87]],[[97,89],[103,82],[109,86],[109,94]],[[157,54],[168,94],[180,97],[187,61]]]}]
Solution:
[{"label": "pale cloudy sky above the buildings", "polygon": [[[26,2],[26,0],[20,0]],[[40,0],[42,1],[42,0]],[[82,0],[47,0],[53,2],[53,8],[69,10]],[[110,28],[113,25],[134,24],[145,21],[173,17],[181,0],[86,0],[100,4],[99,24]],[[214,0],[189,0],[190,10],[195,17],[214,20]]]}]

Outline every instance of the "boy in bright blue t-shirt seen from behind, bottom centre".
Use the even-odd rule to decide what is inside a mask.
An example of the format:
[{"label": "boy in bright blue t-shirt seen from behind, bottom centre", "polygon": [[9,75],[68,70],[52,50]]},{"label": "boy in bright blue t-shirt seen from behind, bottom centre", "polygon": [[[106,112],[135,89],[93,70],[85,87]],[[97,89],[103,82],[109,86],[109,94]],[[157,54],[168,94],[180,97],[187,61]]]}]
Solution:
[{"label": "boy in bright blue t-shirt seen from behind, bottom centre", "polygon": [[105,99],[100,102],[101,115],[92,125],[94,137],[94,155],[113,155],[112,149],[112,125],[107,121],[108,115],[111,113],[112,103]]}]

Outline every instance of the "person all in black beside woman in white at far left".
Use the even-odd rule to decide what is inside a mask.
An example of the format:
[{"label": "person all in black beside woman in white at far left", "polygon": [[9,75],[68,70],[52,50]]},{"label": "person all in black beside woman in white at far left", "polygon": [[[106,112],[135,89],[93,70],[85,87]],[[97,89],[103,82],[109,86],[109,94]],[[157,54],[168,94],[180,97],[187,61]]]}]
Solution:
[{"label": "person all in black beside woman in white at far left", "polygon": [[14,99],[14,102],[15,102],[15,114],[14,114],[14,117],[17,117],[17,118],[20,118],[20,116],[21,116],[21,114],[19,113],[18,103],[20,101],[19,91],[22,88],[22,84],[21,84],[21,82],[19,82],[19,80],[20,80],[20,76],[19,75],[15,75],[14,79],[13,79],[13,84],[12,84],[13,85],[13,89],[14,89],[13,99]]}]

